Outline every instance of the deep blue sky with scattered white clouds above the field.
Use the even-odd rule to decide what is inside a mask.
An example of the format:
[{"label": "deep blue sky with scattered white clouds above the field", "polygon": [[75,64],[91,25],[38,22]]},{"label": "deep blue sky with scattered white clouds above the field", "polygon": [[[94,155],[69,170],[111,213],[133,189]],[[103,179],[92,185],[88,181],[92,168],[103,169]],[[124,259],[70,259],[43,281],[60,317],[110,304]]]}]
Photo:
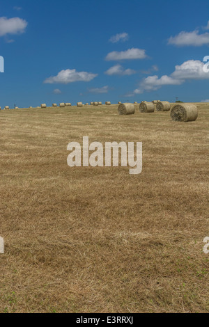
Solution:
[{"label": "deep blue sky with scattered white clouds above the field", "polygon": [[3,108],[209,99],[208,0],[0,2]]}]

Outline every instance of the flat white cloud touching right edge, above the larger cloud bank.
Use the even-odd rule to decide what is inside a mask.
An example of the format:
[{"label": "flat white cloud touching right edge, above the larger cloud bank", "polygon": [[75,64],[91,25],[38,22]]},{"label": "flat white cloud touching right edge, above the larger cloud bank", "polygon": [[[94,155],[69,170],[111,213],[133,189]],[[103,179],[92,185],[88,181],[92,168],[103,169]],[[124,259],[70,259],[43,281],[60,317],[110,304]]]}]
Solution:
[{"label": "flat white cloud touching right edge, above the larger cloud bank", "polygon": [[201,45],[209,45],[209,33],[199,34],[199,31],[180,32],[176,36],[169,38],[169,45],[194,46],[201,47]]}]

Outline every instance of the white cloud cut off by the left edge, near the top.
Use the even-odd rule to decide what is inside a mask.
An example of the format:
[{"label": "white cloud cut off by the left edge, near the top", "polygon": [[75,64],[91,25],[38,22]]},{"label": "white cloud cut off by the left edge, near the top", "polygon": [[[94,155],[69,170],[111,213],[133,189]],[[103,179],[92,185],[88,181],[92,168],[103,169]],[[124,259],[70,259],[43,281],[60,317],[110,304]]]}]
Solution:
[{"label": "white cloud cut off by the left edge, near the top", "polygon": [[19,17],[0,17],[0,36],[24,33],[27,24],[26,20]]}]

